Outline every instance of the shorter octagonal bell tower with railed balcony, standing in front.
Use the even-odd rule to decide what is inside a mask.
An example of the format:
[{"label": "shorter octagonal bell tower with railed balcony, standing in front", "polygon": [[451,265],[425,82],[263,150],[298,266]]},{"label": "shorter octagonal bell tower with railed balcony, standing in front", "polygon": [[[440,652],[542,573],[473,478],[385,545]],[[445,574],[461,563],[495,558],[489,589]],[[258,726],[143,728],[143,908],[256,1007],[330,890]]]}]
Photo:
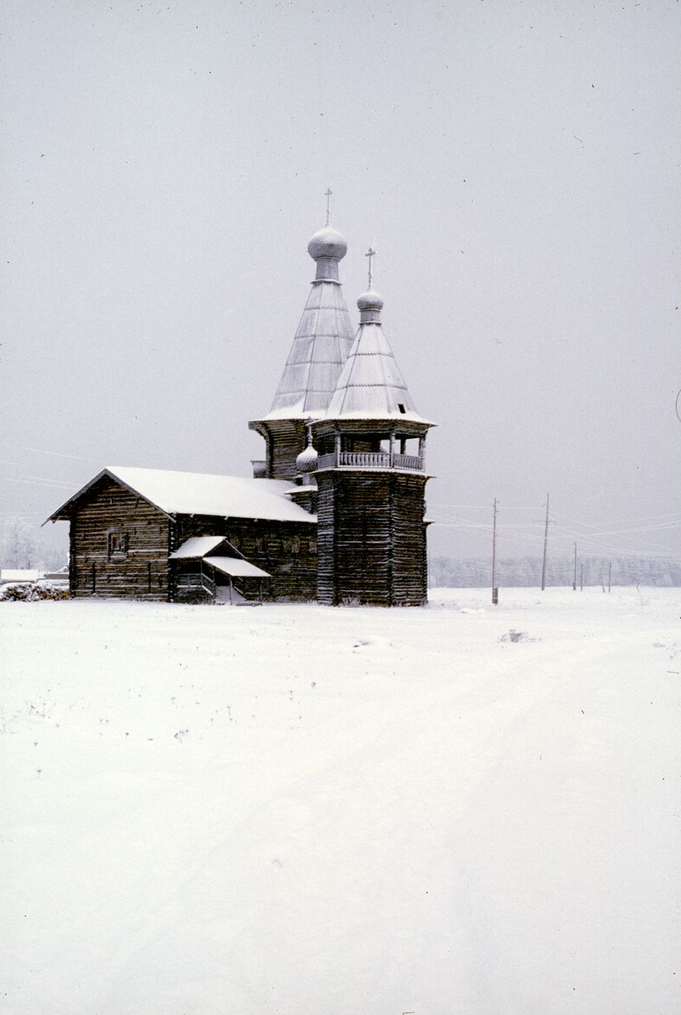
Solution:
[{"label": "shorter octagonal bell tower with railed balcony, standing in front", "polygon": [[425,439],[369,287],[329,407],[311,425],[318,452],[321,603],[422,606],[427,600]]}]

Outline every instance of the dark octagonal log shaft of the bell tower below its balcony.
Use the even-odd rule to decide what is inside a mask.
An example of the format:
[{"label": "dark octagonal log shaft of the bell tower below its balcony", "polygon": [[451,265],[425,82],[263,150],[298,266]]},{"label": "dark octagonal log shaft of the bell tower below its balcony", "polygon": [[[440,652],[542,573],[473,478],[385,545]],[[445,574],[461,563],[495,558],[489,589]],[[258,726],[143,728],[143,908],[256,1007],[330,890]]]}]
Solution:
[{"label": "dark octagonal log shaft of the bell tower below its balcony", "polygon": [[318,473],[317,482],[318,600],[423,605],[426,477],[334,469]]}]

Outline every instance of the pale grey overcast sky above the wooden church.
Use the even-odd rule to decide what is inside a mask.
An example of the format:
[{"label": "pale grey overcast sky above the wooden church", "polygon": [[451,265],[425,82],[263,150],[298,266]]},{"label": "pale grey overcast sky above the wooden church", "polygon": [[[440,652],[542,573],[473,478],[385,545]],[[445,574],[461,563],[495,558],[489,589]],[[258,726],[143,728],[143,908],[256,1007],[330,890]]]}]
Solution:
[{"label": "pale grey overcast sky above the wooden church", "polygon": [[433,551],[487,552],[497,496],[541,553],[547,491],[553,552],[681,551],[676,0],[1,10],[2,519],[250,474],[331,183],[353,322],[374,243],[438,423]]}]

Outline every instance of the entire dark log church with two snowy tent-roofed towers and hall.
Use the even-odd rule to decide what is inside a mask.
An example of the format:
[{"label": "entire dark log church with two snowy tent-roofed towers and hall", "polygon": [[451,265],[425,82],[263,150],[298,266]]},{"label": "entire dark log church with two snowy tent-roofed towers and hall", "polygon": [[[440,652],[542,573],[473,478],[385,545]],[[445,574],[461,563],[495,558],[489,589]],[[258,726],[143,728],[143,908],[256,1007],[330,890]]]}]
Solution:
[{"label": "entire dark log church with two snowy tent-roofed towers and hall", "polygon": [[48,521],[68,520],[74,597],[421,606],[425,438],[372,286],[353,338],[329,224],[253,478],[112,466]]}]

